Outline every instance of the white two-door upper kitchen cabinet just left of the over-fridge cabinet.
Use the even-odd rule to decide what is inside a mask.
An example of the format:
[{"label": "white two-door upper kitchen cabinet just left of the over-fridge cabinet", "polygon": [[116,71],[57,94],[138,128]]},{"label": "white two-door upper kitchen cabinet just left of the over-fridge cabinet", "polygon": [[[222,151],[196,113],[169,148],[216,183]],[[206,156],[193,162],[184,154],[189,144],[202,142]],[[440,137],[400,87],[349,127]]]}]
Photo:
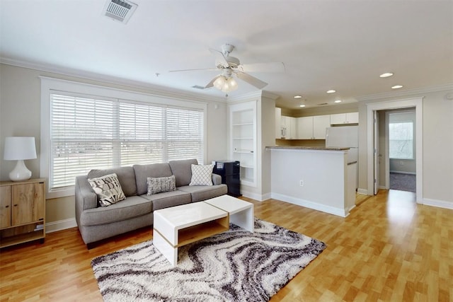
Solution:
[{"label": "white two-door upper kitchen cabinet just left of the over-fridge cabinet", "polygon": [[330,115],[297,118],[297,139],[326,139],[326,128],[330,127]]}]

